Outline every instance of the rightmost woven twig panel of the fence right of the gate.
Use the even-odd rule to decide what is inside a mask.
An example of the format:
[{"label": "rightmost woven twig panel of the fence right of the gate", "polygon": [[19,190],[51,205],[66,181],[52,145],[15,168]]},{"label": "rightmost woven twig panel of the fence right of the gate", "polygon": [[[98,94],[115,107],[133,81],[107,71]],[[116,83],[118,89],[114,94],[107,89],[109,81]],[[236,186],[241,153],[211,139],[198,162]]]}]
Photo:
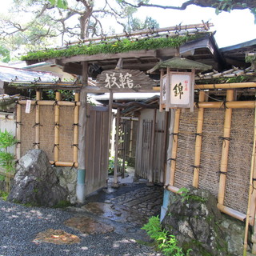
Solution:
[{"label": "rightmost woven twig panel of the fence right of the gate", "polygon": [[254,140],[254,110],[233,110],[225,206],[246,214]]}]

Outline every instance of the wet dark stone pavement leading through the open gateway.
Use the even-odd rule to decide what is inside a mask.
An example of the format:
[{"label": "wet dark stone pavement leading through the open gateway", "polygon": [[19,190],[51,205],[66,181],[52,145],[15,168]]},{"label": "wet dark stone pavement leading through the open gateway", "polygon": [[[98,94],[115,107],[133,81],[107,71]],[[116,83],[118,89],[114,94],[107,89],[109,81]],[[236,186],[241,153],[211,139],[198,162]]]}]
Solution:
[{"label": "wet dark stone pavement leading through the open gateway", "polygon": [[86,198],[83,206],[71,206],[74,214],[69,226],[88,234],[115,232],[130,238],[149,241],[142,226],[151,216],[160,214],[162,186],[145,183],[122,183],[118,188],[98,190]]}]

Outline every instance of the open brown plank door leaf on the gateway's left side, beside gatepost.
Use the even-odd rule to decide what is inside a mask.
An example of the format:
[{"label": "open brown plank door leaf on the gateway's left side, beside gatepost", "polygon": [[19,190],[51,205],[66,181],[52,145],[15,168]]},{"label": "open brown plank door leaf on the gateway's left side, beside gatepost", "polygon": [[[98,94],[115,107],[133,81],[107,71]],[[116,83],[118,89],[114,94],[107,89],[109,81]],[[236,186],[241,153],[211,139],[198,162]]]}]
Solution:
[{"label": "open brown plank door leaf on the gateway's left side, beside gatepost", "polygon": [[108,108],[90,106],[86,122],[86,195],[106,186],[109,158]]}]

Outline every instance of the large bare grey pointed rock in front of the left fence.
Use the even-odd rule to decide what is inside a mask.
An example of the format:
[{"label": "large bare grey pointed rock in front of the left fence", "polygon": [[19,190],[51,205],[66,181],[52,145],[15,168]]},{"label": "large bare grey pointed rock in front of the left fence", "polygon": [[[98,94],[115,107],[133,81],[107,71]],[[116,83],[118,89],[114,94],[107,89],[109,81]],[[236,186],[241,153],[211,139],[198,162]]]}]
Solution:
[{"label": "large bare grey pointed rock in front of the left fence", "polygon": [[67,192],[42,150],[29,150],[18,162],[14,186],[7,198],[10,202],[34,206],[54,206],[66,201]]}]

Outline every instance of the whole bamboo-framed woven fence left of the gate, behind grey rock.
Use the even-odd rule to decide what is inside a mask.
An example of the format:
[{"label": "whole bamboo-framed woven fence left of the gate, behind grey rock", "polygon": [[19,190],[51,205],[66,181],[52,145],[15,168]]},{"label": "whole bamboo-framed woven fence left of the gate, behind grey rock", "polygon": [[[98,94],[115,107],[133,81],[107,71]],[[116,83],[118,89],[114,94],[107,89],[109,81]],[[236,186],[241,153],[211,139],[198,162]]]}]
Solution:
[{"label": "whole bamboo-framed woven fence left of the gate, behind grey rock", "polygon": [[[52,155],[51,156],[52,159],[50,159],[50,163],[53,164],[54,166],[78,167],[78,121],[79,121],[80,105],[81,103],[79,102],[78,93],[74,95],[74,102],[62,101],[61,94],[59,92],[56,92],[55,94],[55,101],[44,101],[44,100],[41,100],[41,91],[38,90],[36,93],[36,100],[31,101],[31,106],[34,106],[34,108],[30,110],[30,114],[28,114],[28,116],[26,117],[26,116],[23,116],[22,114],[22,108],[26,106],[26,100],[18,101],[16,138],[19,143],[16,146],[17,159],[21,158],[22,147],[23,148],[28,147],[28,145],[22,144],[22,141],[24,141],[24,139],[26,141],[31,141],[31,139],[33,139],[33,136],[34,136],[34,143],[33,143],[34,148],[44,149],[44,147],[47,147],[47,148],[50,147],[51,137],[53,136],[54,139],[52,140],[52,143],[53,143],[52,151],[54,154],[50,154],[51,152],[49,149],[48,149],[49,152],[47,152],[49,153],[49,158],[50,158],[50,155]],[[62,111],[62,108],[65,108],[65,107],[69,108],[69,114],[70,114],[70,111],[71,113],[74,114],[74,119],[73,119],[74,123],[73,123],[73,127],[72,126],[70,126],[70,128],[64,127],[63,130],[60,131],[60,129],[62,129],[61,127],[62,121],[67,119],[70,122],[70,116],[66,116],[67,115],[66,110],[63,109]],[[70,108],[73,108],[73,110],[71,110]],[[52,117],[50,117],[50,114],[53,114]],[[30,132],[32,131],[32,129],[28,127],[33,122],[33,120],[31,121],[31,119],[34,119],[34,122],[35,122],[33,126],[34,132]],[[54,122],[51,124],[50,120],[53,120]],[[65,125],[67,124],[65,123]],[[70,123],[70,125],[72,124]],[[50,128],[52,126],[53,128]],[[25,138],[25,134],[22,134],[22,129],[26,129],[26,131],[28,131],[28,134],[26,135],[29,136],[29,138]],[[52,129],[54,130],[54,133],[50,131]],[[70,133],[70,130],[73,130],[72,131],[73,136],[71,138],[71,141],[73,144],[70,145],[70,148],[73,148],[73,149],[72,150],[66,149],[65,152],[60,157],[60,150],[61,150],[60,142],[62,142],[62,146],[65,146],[65,147],[67,144],[63,142],[63,136],[65,135],[66,130],[69,130],[69,133]],[[64,138],[64,140],[65,139],[66,138]],[[68,156],[66,155],[66,152],[68,152]]]}]

